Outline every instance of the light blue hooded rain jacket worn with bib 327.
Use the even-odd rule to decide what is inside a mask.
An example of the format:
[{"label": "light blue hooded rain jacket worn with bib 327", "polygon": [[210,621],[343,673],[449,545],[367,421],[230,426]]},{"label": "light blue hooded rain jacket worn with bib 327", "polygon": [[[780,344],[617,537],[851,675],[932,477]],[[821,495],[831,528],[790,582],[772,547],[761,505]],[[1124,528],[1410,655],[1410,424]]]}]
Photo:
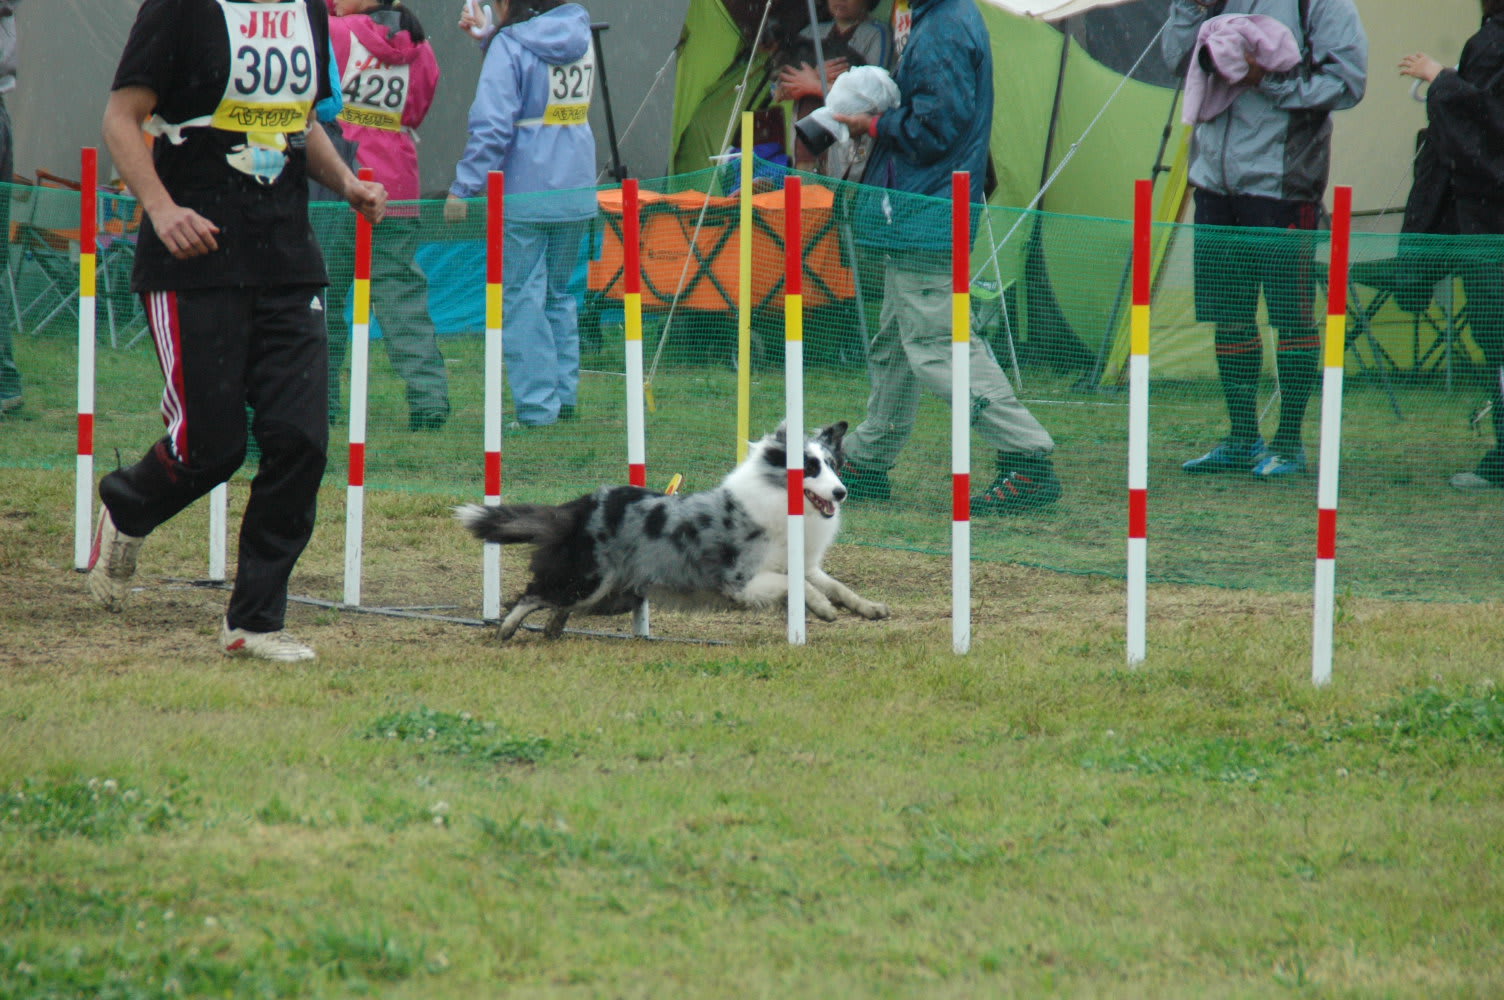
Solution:
[{"label": "light blue hooded rain jacket worn with bib 327", "polygon": [[[469,140],[454,168],[450,194],[474,198],[486,191],[486,173],[507,174],[507,214],[532,221],[562,221],[596,212],[596,135],[588,120],[546,123],[555,104],[594,90],[594,65],[581,60],[591,47],[590,14],[566,3],[498,32],[469,111]],[[584,188],[567,195],[511,197]]]}]

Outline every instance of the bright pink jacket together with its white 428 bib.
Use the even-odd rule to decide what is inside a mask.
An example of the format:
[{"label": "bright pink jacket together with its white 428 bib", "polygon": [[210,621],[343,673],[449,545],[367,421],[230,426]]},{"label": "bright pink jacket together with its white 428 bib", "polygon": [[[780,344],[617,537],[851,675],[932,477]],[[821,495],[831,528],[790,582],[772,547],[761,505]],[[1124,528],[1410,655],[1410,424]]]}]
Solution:
[{"label": "bright pink jacket together with its white 428 bib", "polygon": [[414,44],[408,32],[388,36],[364,14],[329,18],[329,41],[344,90],[340,128],[359,143],[356,159],[393,200],[418,198],[418,146],[411,129],[423,125],[439,86],[433,48],[427,41]]}]

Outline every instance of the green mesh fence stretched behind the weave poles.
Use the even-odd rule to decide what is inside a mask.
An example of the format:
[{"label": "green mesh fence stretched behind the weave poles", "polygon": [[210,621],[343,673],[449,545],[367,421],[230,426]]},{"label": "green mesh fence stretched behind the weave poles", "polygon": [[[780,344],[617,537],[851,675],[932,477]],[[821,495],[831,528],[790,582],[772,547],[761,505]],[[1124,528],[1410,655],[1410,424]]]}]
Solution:
[{"label": "green mesh fence stretched behind the weave poles", "polygon": [[[738,209],[732,183],[726,171],[704,171],[642,185],[650,486],[662,486],[677,472],[684,475],[686,489],[704,489],[719,481],[735,457]],[[782,194],[776,185],[776,177],[760,180],[767,192],[761,194],[754,239],[754,436],[778,424],[784,400]],[[805,189],[820,203],[806,208],[803,220],[811,262],[805,287],[806,421],[815,427],[847,420],[856,427],[871,392],[866,344],[881,316],[881,254],[862,247],[866,233],[860,214],[851,211],[859,191],[820,177],[806,177]],[[710,192],[708,202],[704,192]],[[33,186],[11,186],[9,195],[5,322],[14,328],[24,406],[0,421],[0,465],[45,466],[71,477],[78,195]],[[602,211],[573,230],[566,251],[582,341],[578,420],[507,436],[508,499],[555,502],[600,483],[626,481],[620,197],[612,189],[599,195]],[[898,194],[889,197],[893,211],[938,211],[935,218],[948,218],[943,203],[923,206]],[[534,195],[531,205],[526,197],[507,202],[508,218],[546,214],[537,211],[546,208],[544,195]],[[373,290],[381,340],[373,341],[370,355],[367,490],[412,498],[411,510],[424,523],[423,514],[442,517],[444,504],[481,493],[484,211],[477,202],[465,221],[447,223],[442,205],[426,202],[399,206],[393,217],[376,230],[376,253],[397,263],[417,260],[426,275],[426,308],[423,289],[396,307]],[[104,197],[101,224],[99,472],[113,466],[116,451],[134,460],[161,435],[161,376],[140,308],[128,292],[135,205]],[[335,283],[347,281],[352,215],[338,205],[319,205],[314,227],[328,245]],[[1117,220],[1023,217],[1014,209],[990,209],[978,220],[975,334],[991,346],[1018,397],[1054,438],[1053,459],[1063,486],[1060,501],[1038,513],[978,517],[978,559],[1123,573],[1130,238],[1130,223]],[[1149,573],[1155,580],[1307,589],[1321,459],[1319,374],[1302,433],[1310,472],[1257,481],[1241,474],[1181,471],[1229,430],[1212,325],[1196,319],[1197,241],[1203,250],[1218,241],[1230,248],[1229,289],[1256,265],[1305,269],[1313,289],[1310,326],[1316,332],[1324,328],[1325,233],[1155,229]],[[1495,370],[1484,362],[1483,347],[1493,352],[1489,361],[1496,364],[1495,331],[1504,323],[1496,301],[1501,257],[1504,244],[1493,239],[1352,238],[1337,549],[1342,591],[1424,600],[1496,597],[1504,493],[1462,493],[1448,487],[1448,477],[1472,469],[1493,444],[1487,409]],[[907,260],[946,266],[943,254],[926,259],[914,251]],[[1215,293],[1212,289],[1212,298]],[[510,289],[507,296],[511,304]],[[385,349],[381,326],[405,322],[411,310],[403,313],[403,305],[417,305],[432,317],[439,335],[453,408],[441,429],[411,429],[411,394]],[[1268,305],[1260,301],[1257,308],[1262,365],[1254,405],[1260,430],[1269,436],[1286,386]],[[505,418],[513,417],[508,394]],[[331,487],[343,486],[346,477],[344,429],[337,412]],[[919,402],[913,435],[892,462],[892,498],[848,507],[845,540],[946,552],[946,400],[925,395]],[[981,490],[993,471],[991,448],[981,438],[973,438],[972,468],[973,487]],[[248,465],[241,477],[250,472]],[[340,516],[337,504],[326,504],[320,532],[338,534]],[[414,549],[423,547],[424,531],[415,531]],[[421,565],[409,556],[368,552],[367,592],[391,603],[424,603]],[[337,591],[337,585],[326,589]]]}]

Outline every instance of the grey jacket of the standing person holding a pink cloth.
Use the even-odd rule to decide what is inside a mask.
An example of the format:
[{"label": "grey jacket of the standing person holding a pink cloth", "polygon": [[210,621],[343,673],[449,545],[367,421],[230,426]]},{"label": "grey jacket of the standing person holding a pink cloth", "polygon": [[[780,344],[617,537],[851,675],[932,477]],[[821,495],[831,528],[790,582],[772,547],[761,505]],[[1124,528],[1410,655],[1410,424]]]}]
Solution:
[{"label": "grey jacket of the standing person holding a pink cloth", "polygon": [[1283,21],[1305,60],[1283,74],[1268,74],[1232,107],[1191,134],[1191,183],[1217,194],[1319,202],[1331,167],[1331,111],[1363,99],[1369,75],[1369,39],[1352,0],[1226,0],[1202,6],[1173,0],[1161,39],[1166,62],[1182,71],[1196,47],[1196,32],[1218,14],[1262,14]]}]

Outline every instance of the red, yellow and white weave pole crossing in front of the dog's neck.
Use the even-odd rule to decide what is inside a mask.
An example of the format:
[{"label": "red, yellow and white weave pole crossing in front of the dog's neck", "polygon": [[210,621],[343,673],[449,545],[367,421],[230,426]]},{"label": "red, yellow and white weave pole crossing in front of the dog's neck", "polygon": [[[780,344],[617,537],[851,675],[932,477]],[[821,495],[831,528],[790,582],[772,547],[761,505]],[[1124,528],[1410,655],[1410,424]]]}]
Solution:
[{"label": "red, yellow and white weave pole crossing in front of the dog's neck", "polygon": [[788,469],[788,642],[805,645],[805,235],[799,177],[784,179],[784,454]]}]

